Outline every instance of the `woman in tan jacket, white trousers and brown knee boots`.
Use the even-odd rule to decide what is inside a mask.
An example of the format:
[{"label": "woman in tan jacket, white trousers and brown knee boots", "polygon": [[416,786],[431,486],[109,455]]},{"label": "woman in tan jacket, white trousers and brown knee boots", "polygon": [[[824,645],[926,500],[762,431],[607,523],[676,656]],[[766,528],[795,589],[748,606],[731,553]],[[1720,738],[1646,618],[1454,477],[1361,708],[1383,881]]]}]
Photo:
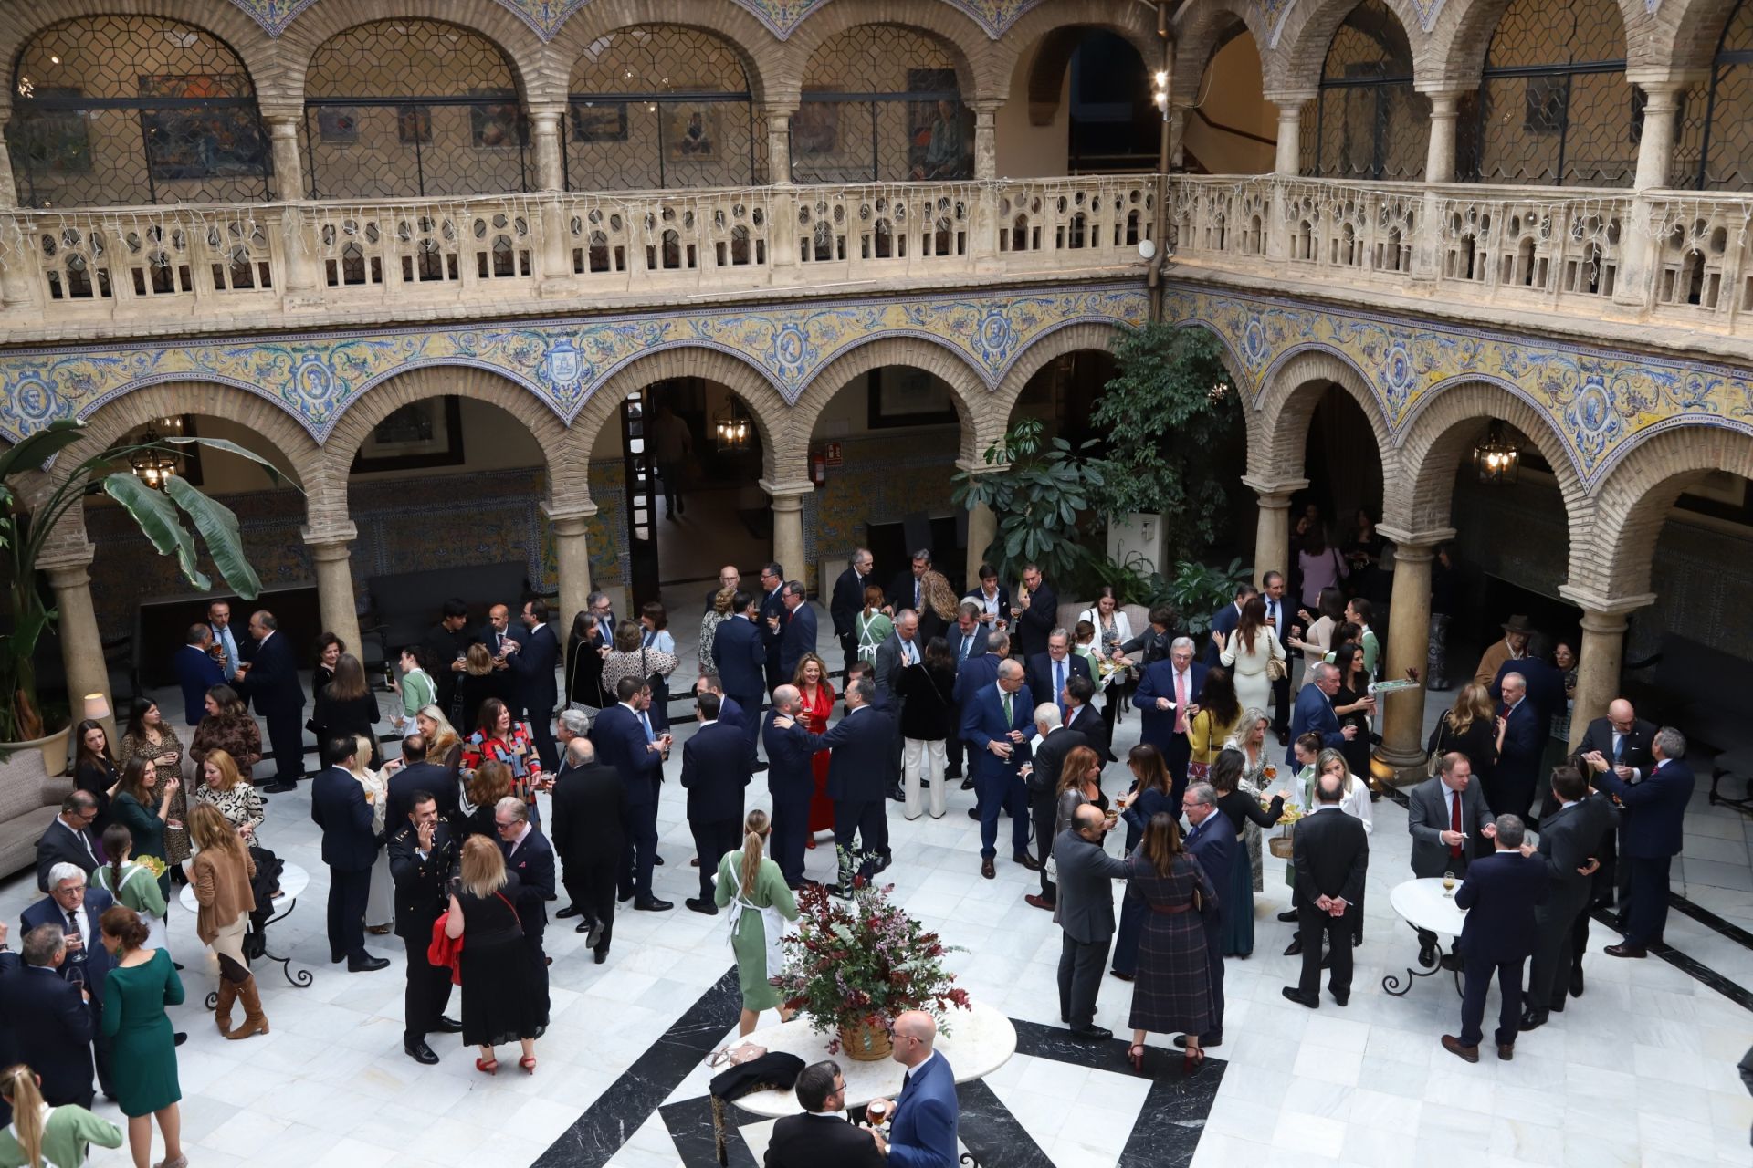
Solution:
[{"label": "woman in tan jacket, white trousers and brown knee boots", "polygon": [[[251,891],[256,862],[231,821],[209,802],[196,802],[189,811],[189,835],[200,849],[193,860],[195,904],[200,905],[195,935],[219,958],[214,1023],[226,1038],[265,1035],[268,1017],[261,1012],[256,975],[249,972],[249,956],[244,953],[249,914],[256,911],[256,895]],[[244,1003],[244,1024],[237,1030],[231,1030],[233,1002]]]}]

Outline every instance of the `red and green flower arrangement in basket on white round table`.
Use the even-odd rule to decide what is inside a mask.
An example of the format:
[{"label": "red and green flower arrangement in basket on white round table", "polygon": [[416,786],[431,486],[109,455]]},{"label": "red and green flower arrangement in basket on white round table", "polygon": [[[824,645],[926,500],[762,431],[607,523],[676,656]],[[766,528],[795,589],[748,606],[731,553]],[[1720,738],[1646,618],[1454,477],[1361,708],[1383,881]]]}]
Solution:
[{"label": "red and green flower arrangement in basket on white round table", "polygon": [[826,884],[798,893],[798,932],[784,939],[785,972],[775,979],[785,1009],[831,1033],[827,1052],[875,1061],[892,1049],[894,1019],[926,1010],[950,1033],[948,1009],[969,1009],[968,991],[943,968],[959,953],[889,900],[894,884],[854,881],[841,900]]}]

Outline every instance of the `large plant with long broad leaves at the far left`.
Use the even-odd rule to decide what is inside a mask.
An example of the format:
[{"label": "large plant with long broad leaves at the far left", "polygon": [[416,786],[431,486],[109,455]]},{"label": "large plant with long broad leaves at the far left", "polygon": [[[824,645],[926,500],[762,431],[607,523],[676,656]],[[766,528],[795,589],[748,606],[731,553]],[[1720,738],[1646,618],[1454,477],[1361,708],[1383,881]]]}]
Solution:
[{"label": "large plant with long broad leaves at the far left", "polygon": [[[61,517],[81,506],[88,494],[107,494],[133,517],[160,555],[177,555],[177,566],[191,585],[202,592],[212,587],[212,580],[196,566],[198,539],[226,585],[237,595],[252,601],[261,592],[261,580],[244,557],[237,515],[230,508],[203,496],[179,475],[165,476],[160,490],[131,471],[110,468],[140,452],[175,454],[179,447],[200,445],[249,459],[266,469],[275,482],[280,480],[272,462],[237,443],[217,438],[161,438],[98,452],[72,468],[35,506],[28,504],[23,476],[44,469],[81,438],[84,422],[58,419],[0,454],[0,548],[5,555],[9,602],[7,632],[0,634],[0,693],[5,695],[5,700],[0,700],[0,758],[23,746],[47,746],[44,758],[53,758],[51,774],[60,772],[65,749],[51,755],[53,741],[44,742],[47,727],[37,700],[35,653],[37,641],[54,625],[58,613],[44,602],[37,560]],[[184,525],[184,518],[193,525],[193,532]],[[65,727],[56,728],[56,734],[65,732]]]}]

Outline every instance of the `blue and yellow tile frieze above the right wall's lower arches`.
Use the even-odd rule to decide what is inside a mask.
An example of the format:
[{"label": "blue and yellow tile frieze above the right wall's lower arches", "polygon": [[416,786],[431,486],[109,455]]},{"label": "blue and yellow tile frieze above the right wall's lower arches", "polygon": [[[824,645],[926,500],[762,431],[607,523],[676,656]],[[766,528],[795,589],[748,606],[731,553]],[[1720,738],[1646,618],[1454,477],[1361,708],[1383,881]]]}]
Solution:
[{"label": "blue and yellow tile frieze above the right wall's lower arches", "polygon": [[1262,401],[1273,375],[1306,350],[1348,361],[1394,441],[1444,385],[1488,382],[1551,422],[1585,487],[1641,441],[1676,426],[1753,434],[1753,371],[1585,348],[1388,315],[1345,313],[1266,296],[1169,285],[1167,315],[1210,327]]}]

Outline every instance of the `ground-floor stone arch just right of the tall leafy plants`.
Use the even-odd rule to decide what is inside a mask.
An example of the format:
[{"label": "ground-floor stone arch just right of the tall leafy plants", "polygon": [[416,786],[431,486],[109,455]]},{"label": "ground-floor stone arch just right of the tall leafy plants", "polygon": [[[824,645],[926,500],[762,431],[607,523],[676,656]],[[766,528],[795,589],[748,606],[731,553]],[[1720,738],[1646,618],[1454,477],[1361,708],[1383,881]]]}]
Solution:
[{"label": "ground-floor stone arch just right of the tall leafy plants", "polygon": [[[1245,382],[1243,382],[1245,383]],[[1252,408],[1248,426],[1248,475],[1260,482],[1302,478],[1302,452],[1308,443],[1315,405],[1327,385],[1339,385],[1369,419],[1381,452],[1381,482],[1397,482],[1399,452],[1381,405],[1369,389],[1369,376],[1352,359],[1317,345],[1292,348],[1273,362]]]}]

